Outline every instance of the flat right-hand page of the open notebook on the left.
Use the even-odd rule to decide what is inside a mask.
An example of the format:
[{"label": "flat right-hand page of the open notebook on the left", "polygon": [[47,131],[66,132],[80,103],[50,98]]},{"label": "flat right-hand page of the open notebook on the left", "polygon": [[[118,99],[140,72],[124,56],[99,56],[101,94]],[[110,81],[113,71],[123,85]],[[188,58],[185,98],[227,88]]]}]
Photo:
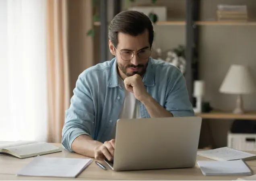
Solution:
[{"label": "flat right-hand page of the open notebook on the left", "polygon": [[58,150],[60,148],[45,142],[26,144],[21,146],[14,146],[7,148],[10,152],[16,153],[17,155],[29,155],[33,153],[48,152],[52,150]]}]

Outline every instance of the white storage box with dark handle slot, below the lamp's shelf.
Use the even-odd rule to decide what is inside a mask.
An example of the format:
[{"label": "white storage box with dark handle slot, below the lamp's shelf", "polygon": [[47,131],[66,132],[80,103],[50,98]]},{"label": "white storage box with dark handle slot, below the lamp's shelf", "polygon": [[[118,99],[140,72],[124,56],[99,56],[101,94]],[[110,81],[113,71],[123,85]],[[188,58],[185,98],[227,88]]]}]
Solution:
[{"label": "white storage box with dark handle slot, below the lamp's shelf", "polygon": [[227,146],[236,150],[256,151],[256,134],[227,134]]}]

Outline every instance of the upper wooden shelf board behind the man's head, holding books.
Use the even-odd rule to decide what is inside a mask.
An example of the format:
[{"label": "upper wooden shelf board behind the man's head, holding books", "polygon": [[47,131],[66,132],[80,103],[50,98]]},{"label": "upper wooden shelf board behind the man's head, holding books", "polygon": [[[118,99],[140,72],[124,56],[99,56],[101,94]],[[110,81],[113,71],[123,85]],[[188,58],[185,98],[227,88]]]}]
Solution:
[{"label": "upper wooden shelf board behind the man's head, holding books", "polygon": [[[101,22],[94,22],[95,26],[100,26]],[[156,25],[186,25],[185,21],[158,21]],[[196,21],[196,25],[256,25],[256,21]]]}]

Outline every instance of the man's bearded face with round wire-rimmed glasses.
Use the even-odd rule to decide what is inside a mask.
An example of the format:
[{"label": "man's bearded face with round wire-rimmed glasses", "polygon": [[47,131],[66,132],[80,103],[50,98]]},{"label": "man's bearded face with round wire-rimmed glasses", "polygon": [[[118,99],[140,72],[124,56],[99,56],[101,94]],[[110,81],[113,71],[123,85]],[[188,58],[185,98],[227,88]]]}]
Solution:
[{"label": "man's bearded face with round wire-rimmed glasses", "polygon": [[114,47],[109,41],[109,48],[111,53],[116,56],[121,76],[122,74],[125,76],[133,76],[134,74],[142,76],[146,72],[151,53],[148,31],[136,37],[118,33],[118,46]]}]

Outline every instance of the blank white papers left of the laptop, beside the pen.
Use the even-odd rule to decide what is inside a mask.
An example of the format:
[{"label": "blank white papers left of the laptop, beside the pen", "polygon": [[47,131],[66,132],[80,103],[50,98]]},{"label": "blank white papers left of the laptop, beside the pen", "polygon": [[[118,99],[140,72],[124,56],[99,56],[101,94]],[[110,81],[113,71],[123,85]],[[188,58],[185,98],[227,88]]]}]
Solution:
[{"label": "blank white papers left of the laptop, beside the pen", "polygon": [[76,178],[92,162],[91,158],[55,158],[37,156],[17,176]]}]

